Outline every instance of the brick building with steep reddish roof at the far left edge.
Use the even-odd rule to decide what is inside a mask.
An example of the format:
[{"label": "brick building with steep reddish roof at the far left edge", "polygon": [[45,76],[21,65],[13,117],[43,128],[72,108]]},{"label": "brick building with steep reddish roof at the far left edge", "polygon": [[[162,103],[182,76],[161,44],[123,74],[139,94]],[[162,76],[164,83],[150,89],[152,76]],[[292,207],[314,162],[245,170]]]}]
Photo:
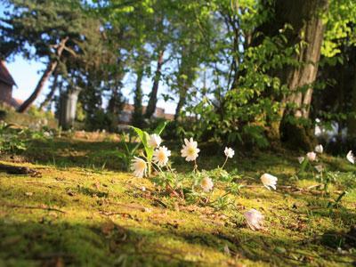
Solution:
[{"label": "brick building with steep reddish roof at the far left edge", "polygon": [[12,88],[17,86],[4,61],[0,61],[0,102],[17,109],[22,101],[12,98]]}]

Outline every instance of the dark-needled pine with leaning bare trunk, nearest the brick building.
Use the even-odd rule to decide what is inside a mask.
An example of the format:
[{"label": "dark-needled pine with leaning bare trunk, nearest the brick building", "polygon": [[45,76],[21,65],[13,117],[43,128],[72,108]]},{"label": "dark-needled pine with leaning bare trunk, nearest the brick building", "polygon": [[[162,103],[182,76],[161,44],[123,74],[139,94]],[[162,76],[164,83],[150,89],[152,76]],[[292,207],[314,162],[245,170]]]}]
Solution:
[{"label": "dark-needled pine with leaning bare trunk, nearest the brick building", "polygon": [[47,66],[34,92],[18,109],[26,111],[42,92],[64,53],[76,56],[84,42],[86,14],[80,0],[10,0],[12,8],[0,23],[0,47],[4,56],[22,53],[28,59],[42,59]]}]

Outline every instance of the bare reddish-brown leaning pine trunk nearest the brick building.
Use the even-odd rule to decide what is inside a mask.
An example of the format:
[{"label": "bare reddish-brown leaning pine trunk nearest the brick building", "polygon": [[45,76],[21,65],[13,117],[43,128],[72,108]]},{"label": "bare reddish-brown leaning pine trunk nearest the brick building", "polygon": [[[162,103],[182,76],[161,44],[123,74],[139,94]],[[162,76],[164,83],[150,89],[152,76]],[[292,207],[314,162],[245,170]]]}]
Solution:
[{"label": "bare reddish-brown leaning pine trunk nearest the brick building", "polygon": [[33,104],[33,102],[36,101],[36,98],[44,89],[44,84],[51,77],[54,69],[56,69],[56,67],[58,65],[58,61],[61,58],[61,53],[63,52],[68,39],[69,39],[69,37],[62,39],[61,43],[57,45],[56,59],[49,62],[47,68],[44,70],[44,74],[39,79],[38,84],[36,85],[35,91],[28,97],[28,99],[26,101],[24,101],[22,103],[22,105],[20,105],[19,109],[17,109],[18,112],[20,112],[20,113],[26,112],[29,109],[29,107]]}]

